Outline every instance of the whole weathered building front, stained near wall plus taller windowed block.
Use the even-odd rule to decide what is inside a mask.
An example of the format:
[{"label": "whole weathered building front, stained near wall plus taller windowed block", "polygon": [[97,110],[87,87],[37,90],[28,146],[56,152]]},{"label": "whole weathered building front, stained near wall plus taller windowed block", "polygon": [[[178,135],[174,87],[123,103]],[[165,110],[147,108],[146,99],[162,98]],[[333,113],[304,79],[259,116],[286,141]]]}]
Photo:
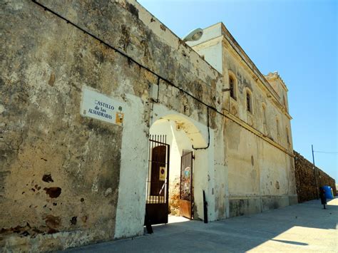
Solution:
[{"label": "whole weathered building front, stained near wall plus taller windowed block", "polygon": [[[194,152],[194,218],[297,202],[287,88],[277,73],[262,76],[224,25],[193,49],[135,1],[6,1],[1,17],[3,249],[143,234],[148,137],[158,120],[179,125],[194,147],[178,147]],[[213,46],[210,58],[203,50]],[[222,91],[229,75],[237,100]],[[123,125],[83,117],[84,87],[121,101]]]}]

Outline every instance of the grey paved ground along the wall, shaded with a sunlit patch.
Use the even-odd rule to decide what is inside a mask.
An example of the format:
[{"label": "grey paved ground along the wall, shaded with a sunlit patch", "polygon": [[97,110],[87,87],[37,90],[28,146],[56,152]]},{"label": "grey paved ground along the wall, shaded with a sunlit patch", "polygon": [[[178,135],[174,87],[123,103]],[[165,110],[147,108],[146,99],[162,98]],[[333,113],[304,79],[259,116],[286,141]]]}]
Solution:
[{"label": "grey paved ground along the wall, shaded with a sunlit patch", "polygon": [[204,224],[154,226],[154,234],[68,252],[338,252],[338,199],[319,200]]}]

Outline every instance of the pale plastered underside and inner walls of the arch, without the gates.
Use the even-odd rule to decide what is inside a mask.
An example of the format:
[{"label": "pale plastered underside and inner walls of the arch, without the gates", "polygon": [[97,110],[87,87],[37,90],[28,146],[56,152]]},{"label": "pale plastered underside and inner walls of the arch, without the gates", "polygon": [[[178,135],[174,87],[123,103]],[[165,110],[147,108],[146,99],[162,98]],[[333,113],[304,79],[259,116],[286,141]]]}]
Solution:
[{"label": "pale plastered underside and inner walls of the arch, without the gates", "polygon": [[[203,190],[208,188],[208,128],[192,118],[173,111],[154,113],[150,135],[166,135],[170,145],[169,208],[172,215],[180,215],[181,157],[189,152],[193,163],[193,216],[203,217]],[[182,205],[182,204],[180,204]],[[181,210],[182,213],[182,210]]]}]

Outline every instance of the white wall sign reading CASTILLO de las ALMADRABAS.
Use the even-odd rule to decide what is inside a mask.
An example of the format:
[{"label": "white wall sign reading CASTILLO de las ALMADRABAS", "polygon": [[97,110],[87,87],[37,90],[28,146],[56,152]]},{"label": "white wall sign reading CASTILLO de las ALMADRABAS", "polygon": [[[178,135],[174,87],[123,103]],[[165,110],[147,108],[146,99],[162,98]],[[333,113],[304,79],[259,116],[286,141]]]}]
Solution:
[{"label": "white wall sign reading CASTILLO de las ALMADRABAS", "polygon": [[80,114],[116,125],[123,125],[123,103],[83,86]]}]

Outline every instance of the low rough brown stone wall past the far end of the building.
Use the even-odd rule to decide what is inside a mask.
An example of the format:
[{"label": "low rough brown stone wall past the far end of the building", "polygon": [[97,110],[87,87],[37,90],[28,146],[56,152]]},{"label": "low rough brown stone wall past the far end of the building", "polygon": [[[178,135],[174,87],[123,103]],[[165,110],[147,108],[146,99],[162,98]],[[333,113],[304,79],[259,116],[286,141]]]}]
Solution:
[{"label": "low rough brown stone wall past the far end of the building", "polygon": [[[295,177],[298,202],[314,200],[317,198],[316,182],[314,180],[314,170],[312,162],[303,158],[302,155],[295,153]],[[316,167],[317,187],[329,185],[332,187],[334,195],[337,195],[335,181],[324,171]]]}]

